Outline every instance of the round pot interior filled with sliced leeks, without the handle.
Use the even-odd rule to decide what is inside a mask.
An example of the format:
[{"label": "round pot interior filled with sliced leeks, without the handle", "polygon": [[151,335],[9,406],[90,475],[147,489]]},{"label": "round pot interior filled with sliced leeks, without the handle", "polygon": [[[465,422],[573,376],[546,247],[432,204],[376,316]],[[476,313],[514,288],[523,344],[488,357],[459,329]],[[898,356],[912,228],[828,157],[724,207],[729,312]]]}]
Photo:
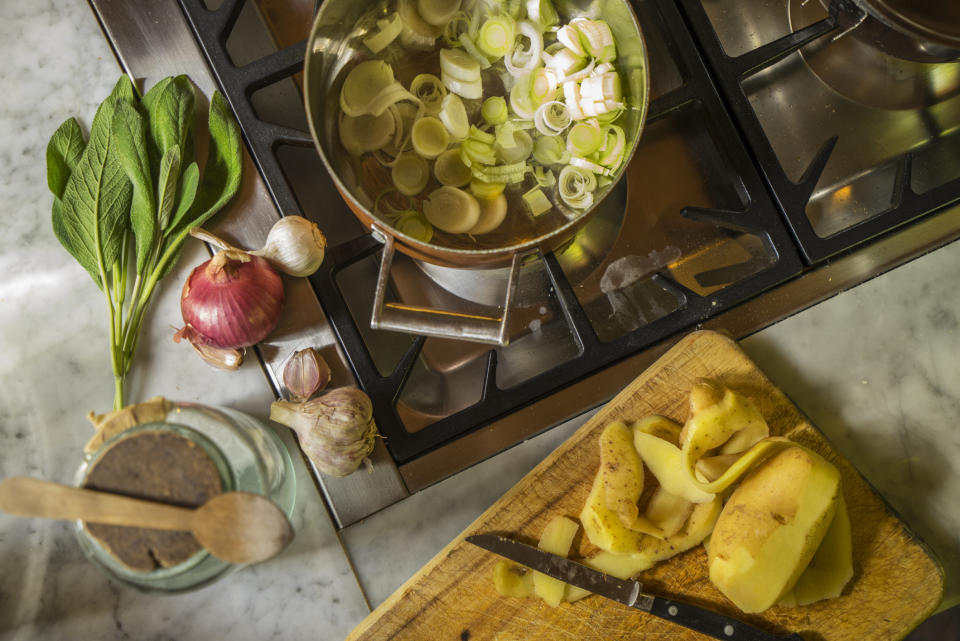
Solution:
[{"label": "round pot interior filled with sliced leeks, without the handle", "polygon": [[[304,97],[334,183],[391,256],[494,268],[569,240],[623,176],[647,69],[627,0],[325,0]],[[375,206],[386,192],[403,215]]]}]

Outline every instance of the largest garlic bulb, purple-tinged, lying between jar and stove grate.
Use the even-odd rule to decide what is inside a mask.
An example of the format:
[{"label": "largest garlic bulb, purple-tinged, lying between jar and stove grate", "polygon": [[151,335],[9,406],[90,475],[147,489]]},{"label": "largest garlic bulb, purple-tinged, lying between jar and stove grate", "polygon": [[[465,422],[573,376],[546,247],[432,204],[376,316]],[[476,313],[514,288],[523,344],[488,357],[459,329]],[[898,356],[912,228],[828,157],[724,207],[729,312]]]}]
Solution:
[{"label": "largest garlic bulb, purple-tinged, lying between jar and stove grate", "polygon": [[297,433],[304,454],[323,474],[343,477],[369,464],[377,424],[370,397],[355,387],[339,387],[303,403],[275,401],[270,419]]}]

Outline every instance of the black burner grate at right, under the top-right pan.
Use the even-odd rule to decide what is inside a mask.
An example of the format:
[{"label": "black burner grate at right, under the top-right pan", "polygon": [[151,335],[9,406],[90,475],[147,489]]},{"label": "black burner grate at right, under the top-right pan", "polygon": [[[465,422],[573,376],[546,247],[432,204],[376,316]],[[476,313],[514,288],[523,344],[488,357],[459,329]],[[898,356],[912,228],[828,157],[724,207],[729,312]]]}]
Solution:
[{"label": "black burner grate at right, under the top-right pan", "polygon": [[960,200],[960,177],[922,194],[914,191],[910,186],[914,153],[908,152],[896,161],[893,198],[885,211],[829,236],[818,235],[805,211],[838,137],[824,140],[800,180],[790,180],[747,97],[743,82],[814,40],[841,32],[842,13],[859,12],[860,9],[852,5],[850,0],[833,0],[828,17],[756,49],[731,57],[723,49],[704,9],[703,0],[680,0],[680,5],[807,262],[812,264],[823,261],[838,252],[856,247]]}]

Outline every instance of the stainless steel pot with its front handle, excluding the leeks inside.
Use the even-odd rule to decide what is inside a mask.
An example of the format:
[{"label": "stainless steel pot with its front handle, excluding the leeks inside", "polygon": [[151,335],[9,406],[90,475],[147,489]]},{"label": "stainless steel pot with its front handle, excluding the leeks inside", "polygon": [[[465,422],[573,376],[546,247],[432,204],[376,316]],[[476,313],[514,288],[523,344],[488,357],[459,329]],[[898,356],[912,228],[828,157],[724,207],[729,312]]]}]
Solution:
[{"label": "stainless steel pot with its front handle, excluding the leeks inside", "polygon": [[[590,17],[605,20],[617,43],[616,68],[623,81],[629,109],[618,121],[626,134],[628,148],[624,163],[609,186],[595,193],[594,207],[568,216],[552,212],[533,221],[520,211],[508,212],[508,221],[490,234],[472,239],[464,234],[437,232],[429,243],[400,233],[390,222],[373,212],[376,193],[364,186],[363,167],[343,149],[338,132],[340,88],[346,73],[363,60],[380,57],[394,63],[397,79],[407,85],[416,73],[439,75],[438,47],[419,54],[415,63],[399,58],[398,45],[373,56],[362,39],[375,29],[378,19],[396,9],[396,0],[325,0],[317,13],[307,40],[304,67],[304,101],[310,132],[317,151],[329,170],[347,205],[378,239],[384,242],[380,280],[374,302],[371,326],[415,334],[459,338],[499,345],[506,344],[508,314],[521,259],[536,252],[559,247],[588,220],[596,205],[623,176],[640,138],[649,104],[647,48],[636,15],[627,0],[555,0],[561,20]],[[406,77],[409,76],[409,77]],[[485,87],[490,81],[485,77]],[[495,79],[494,79],[495,81]],[[478,109],[480,101],[466,101],[468,111]],[[476,103],[476,104],[469,104]],[[430,190],[427,187],[427,191]],[[512,209],[517,209],[512,204]],[[503,313],[498,317],[466,316],[434,309],[411,308],[385,303],[386,283],[394,251],[416,259],[465,269],[498,268],[510,265],[511,277],[504,294]]]}]

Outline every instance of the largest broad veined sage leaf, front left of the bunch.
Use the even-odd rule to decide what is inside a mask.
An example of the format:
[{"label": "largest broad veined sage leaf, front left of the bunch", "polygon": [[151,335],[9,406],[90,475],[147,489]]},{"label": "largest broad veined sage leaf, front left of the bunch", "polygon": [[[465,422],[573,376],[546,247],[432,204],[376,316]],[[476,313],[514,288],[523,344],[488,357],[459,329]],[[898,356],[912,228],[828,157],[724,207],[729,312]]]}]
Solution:
[{"label": "largest broad veined sage leaf, front left of the bunch", "polygon": [[[120,98],[108,98],[97,110],[90,141],[67,179],[63,198],[54,201],[53,232],[103,289],[101,272],[120,259],[133,188],[111,152],[112,116]],[[109,103],[109,104],[108,104]]]}]

